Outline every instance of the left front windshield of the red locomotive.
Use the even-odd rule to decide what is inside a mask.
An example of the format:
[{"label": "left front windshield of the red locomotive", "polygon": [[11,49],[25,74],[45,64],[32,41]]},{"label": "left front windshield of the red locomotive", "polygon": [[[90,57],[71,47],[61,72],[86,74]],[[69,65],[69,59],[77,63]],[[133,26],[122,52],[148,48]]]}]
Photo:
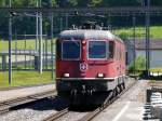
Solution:
[{"label": "left front windshield of the red locomotive", "polygon": [[63,41],[62,43],[63,59],[79,59],[80,58],[80,41]]}]

